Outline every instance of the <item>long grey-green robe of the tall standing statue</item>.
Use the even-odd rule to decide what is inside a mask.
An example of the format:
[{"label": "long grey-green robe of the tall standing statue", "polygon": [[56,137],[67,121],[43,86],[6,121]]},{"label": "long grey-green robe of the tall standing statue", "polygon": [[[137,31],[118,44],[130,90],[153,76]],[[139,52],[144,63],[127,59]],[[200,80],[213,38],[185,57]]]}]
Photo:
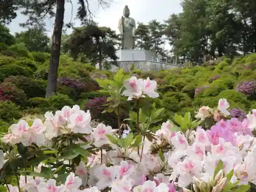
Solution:
[{"label": "long grey-green robe of the tall standing statue", "polygon": [[122,35],[121,49],[134,49],[134,31],[136,23],[132,17],[121,17],[118,23],[118,29]]}]

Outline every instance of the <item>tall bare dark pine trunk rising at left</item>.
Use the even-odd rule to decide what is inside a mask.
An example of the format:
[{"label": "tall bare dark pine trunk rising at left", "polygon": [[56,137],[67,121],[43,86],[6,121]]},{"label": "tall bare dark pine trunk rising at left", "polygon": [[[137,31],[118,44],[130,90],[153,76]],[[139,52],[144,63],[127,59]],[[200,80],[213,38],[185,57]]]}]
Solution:
[{"label": "tall bare dark pine trunk rising at left", "polygon": [[50,58],[49,73],[48,73],[48,79],[47,79],[46,98],[54,95],[56,92],[64,12],[65,12],[65,0],[57,0],[56,16],[55,16],[53,35],[52,35],[51,58]]}]

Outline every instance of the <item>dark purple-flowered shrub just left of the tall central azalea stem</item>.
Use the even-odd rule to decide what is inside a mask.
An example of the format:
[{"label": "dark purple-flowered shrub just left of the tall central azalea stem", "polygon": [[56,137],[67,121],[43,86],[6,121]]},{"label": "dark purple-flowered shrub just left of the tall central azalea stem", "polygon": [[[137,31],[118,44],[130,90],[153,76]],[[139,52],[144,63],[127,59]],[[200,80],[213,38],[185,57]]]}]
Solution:
[{"label": "dark purple-flowered shrub just left of the tall central azalea stem", "polygon": [[105,104],[110,103],[107,101],[108,97],[95,97],[94,99],[89,99],[84,104],[84,111],[89,110],[92,119],[98,119],[103,121],[105,124],[111,125],[112,127],[117,127],[117,115],[115,113],[102,113],[108,108]]}]

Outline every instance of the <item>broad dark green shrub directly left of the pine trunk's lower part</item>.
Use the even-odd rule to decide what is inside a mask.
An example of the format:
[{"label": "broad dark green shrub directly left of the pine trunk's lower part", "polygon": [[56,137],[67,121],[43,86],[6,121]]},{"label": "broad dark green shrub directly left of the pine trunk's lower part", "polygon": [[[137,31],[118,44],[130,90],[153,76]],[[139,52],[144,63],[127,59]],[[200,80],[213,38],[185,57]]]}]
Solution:
[{"label": "broad dark green shrub directly left of the pine trunk's lower part", "polygon": [[33,79],[25,76],[10,76],[5,79],[5,82],[15,84],[19,89],[22,89],[28,98],[45,97],[46,81]]}]

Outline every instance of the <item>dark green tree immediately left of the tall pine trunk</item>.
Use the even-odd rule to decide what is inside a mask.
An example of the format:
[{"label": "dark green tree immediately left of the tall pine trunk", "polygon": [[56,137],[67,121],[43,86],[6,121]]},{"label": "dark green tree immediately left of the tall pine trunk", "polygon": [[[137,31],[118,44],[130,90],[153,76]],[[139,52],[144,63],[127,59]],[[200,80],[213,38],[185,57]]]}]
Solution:
[{"label": "dark green tree immediately left of the tall pine trunk", "polygon": [[50,38],[45,32],[44,27],[37,27],[16,33],[16,42],[26,44],[29,51],[49,52]]}]

